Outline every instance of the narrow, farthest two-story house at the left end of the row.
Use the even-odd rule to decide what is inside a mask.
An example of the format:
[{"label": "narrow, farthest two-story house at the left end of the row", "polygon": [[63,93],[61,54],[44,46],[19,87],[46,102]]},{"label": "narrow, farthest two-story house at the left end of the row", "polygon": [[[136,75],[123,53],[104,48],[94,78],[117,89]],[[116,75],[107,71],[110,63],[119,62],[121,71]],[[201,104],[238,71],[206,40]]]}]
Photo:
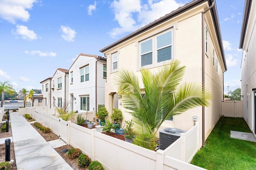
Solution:
[{"label": "narrow, farthest two-story house at the left end of the row", "polygon": [[42,84],[42,95],[43,95],[43,100],[42,100],[42,106],[47,106],[47,108],[52,108],[51,106],[51,80],[52,77],[48,77],[45,80],[41,81],[40,83]]}]

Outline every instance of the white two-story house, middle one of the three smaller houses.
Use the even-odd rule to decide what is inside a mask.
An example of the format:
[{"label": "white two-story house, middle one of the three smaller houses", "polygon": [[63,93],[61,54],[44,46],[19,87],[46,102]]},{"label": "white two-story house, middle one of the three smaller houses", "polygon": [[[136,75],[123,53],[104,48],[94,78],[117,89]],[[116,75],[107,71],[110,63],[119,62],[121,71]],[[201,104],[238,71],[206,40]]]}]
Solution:
[{"label": "white two-story house, middle one of the three smaller houses", "polygon": [[63,107],[63,104],[69,104],[68,98],[68,70],[63,68],[58,68],[54,75],[52,76],[51,86],[51,104],[54,107]]}]

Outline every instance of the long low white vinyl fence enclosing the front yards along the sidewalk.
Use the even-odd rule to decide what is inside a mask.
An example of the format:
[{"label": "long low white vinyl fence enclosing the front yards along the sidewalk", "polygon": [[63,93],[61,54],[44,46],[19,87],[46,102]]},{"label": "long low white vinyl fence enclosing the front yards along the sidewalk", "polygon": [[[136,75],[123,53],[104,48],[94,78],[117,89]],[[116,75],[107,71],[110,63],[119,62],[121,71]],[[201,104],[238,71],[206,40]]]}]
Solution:
[{"label": "long low white vinyl fence enclosing the front yards along the sidewalk", "polygon": [[203,170],[188,163],[199,149],[199,123],[165,150],[155,152],[36,109],[29,108],[27,112],[68,145],[80,148],[92,160],[101,162],[106,170]]}]

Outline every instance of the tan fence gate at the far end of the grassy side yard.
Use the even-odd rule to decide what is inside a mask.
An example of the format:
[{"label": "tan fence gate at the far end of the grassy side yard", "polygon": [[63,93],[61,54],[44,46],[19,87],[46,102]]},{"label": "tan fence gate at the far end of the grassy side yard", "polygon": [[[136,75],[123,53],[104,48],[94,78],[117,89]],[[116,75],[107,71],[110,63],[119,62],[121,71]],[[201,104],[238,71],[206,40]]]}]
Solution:
[{"label": "tan fence gate at the far end of the grassy side yard", "polygon": [[222,101],[222,115],[226,117],[243,117],[243,101]]}]

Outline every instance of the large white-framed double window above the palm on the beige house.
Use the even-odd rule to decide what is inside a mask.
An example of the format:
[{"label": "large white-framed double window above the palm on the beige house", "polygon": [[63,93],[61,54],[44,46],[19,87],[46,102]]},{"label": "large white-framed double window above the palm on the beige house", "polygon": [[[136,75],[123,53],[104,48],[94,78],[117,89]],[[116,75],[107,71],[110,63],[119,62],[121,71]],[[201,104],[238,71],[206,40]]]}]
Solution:
[{"label": "large white-framed double window above the palm on the beige house", "polygon": [[172,59],[172,30],[140,42],[140,66]]}]

